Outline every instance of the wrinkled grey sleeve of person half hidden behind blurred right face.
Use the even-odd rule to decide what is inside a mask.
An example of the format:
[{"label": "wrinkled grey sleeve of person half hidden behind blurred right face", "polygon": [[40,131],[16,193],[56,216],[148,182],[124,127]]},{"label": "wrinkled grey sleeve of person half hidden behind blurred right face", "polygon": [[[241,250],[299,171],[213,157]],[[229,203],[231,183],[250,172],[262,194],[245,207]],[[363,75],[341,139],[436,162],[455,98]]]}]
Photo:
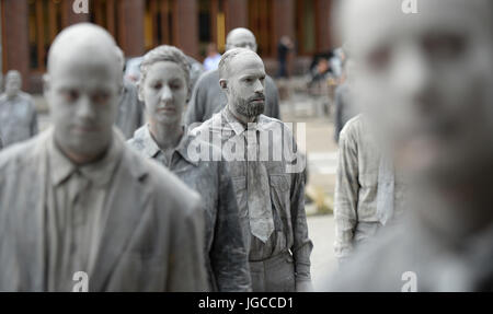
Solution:
[{"label": "wrinkled grey sleeve of person half hidden behind blurred right face", "polygon": [[357,146],[351,130],[344,128],[339,140],[334,202],[334,253],[339,259],[347,257],[353,251],[359,191]]}]

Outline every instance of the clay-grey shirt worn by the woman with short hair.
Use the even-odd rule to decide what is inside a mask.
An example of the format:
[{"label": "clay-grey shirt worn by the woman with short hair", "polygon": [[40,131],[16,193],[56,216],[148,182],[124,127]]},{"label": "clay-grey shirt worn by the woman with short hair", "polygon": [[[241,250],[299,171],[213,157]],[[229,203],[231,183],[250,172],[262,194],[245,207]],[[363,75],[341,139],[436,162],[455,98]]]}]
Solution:
[{"label": "clay-grey shirt worn by the woman with short hair", "polygon": [[167,160],[156,143],[148,125],[139,128],[128,143],[145,156],[157,160],[200,194],[206,212],[205,248],[211,289],[250,291],[248,258],[231,177],[225,162],[196,161],[190,156],[188,150],[195,149],[194,144],[208,146],[197,140],[185,128],[171,160]]}]

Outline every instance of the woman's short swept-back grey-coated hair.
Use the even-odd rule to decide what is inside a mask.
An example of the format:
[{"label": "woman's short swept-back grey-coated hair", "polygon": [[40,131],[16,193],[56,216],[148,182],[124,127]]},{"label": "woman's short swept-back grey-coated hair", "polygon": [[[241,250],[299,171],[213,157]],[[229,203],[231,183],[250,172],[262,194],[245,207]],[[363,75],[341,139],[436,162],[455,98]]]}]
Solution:
[{"label": "woman's short swept-back grey-coated hair", "polygon": [[147,72],[149,68],[160,61],[170,61],[176,63],[185,74],[186,86],[190,92],[190,62],[185,54],[174,46],[162,45],[153,48],[144,56],[142,62],[140,63],[140,80],[139,86],[144,86],[146,81]]}]

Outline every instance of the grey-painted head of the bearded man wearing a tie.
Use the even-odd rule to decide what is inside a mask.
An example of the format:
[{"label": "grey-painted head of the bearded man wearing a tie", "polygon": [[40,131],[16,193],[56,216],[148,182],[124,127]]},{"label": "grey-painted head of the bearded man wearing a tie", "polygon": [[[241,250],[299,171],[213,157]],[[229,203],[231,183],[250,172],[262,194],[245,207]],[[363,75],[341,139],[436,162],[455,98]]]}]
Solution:
[{"label": "grey-painted head of the bearded man wearing a tie", "polygon": [[221,85],[230,109],[248,119],[259,116],[265,106],[265,68],[262,59],[255,53],[244,51],[229,62],[228,78]]}]

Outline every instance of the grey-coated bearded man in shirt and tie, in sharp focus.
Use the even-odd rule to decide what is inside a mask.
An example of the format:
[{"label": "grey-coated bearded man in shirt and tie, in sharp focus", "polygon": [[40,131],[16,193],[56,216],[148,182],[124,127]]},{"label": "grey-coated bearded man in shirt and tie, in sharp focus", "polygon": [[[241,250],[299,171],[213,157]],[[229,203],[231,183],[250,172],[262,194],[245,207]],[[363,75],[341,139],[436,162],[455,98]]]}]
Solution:
[{"label": "grey-coated bearded man in shirt and tie, in sharp focus", "polygon": [[193,133],[221,146],[240,210],[253,291],[310,291],[305,167],[299,166],[298,154],[279,153],[293,147],[290,152],[296,151],[287,125],[262,114],[264,63],[250,49],[231,49],[221,57],[219,78],[228,104]]}]

